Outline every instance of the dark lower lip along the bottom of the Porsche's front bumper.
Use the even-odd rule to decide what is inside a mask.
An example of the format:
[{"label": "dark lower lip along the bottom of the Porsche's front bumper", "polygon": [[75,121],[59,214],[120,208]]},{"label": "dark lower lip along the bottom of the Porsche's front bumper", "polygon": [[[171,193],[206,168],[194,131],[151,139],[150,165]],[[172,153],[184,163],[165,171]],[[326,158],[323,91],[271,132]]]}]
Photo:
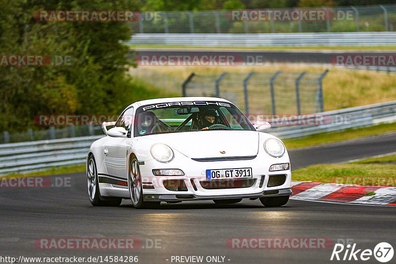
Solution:
[{"label": "dark lower lip along the bottom of the Porsche's front bumper", "polygon": [[182,202],[182,201],[198,201],[198,200],[224,200],[237,198],[263,198],[275,196],[292,195],[291,188],[266,190],[259,193],[250,194],[230,194],[230,195],[196,195],[196,194],[143,194],[144,200],[147,202]]}]

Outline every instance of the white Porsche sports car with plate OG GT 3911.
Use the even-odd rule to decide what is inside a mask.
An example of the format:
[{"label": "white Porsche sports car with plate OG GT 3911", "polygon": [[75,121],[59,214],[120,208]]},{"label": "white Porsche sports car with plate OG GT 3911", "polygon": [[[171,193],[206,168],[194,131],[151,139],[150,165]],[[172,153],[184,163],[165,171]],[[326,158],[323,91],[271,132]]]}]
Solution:
[{"label": "white Porsche sports car with plate OG GT 3911", "polygon": [[[107,127],[112,126],[107,131]],[[251,124],[230,101],[177,97],[139,101],[117,121],[102,124],[105,137],[87,158],[88,194],[94,206],[135,208],[160,202],[259,199],[285,205],[291,189],[290,160],[280,139]]]}]

